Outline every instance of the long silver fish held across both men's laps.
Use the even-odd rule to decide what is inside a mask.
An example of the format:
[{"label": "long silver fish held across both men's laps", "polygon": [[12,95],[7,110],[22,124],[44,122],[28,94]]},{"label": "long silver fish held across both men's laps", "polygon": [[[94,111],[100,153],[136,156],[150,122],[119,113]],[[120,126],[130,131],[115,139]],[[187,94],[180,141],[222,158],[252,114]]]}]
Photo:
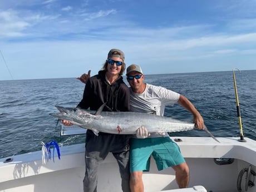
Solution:
[{"label": "long silver fish held across both men's laps", "polygon": [[[102,111],[104,105],[95,114],[91,111],[80,108],[70,108],[56,106],[60,113],[50,114],[61,120],[68,120],[72,124],[85,129],[92,130],[96,135],[99,132],[109,134],[136,134],[140,126],[145,126],[147,131],[158,132],[178,132],[196,129],[195,124],[164,117],[159,115],[146,114],[141,112],[107,112]],[[208,130],[204,130],[218,141]],[[219,142],[219,141],[218,141]]]}]

